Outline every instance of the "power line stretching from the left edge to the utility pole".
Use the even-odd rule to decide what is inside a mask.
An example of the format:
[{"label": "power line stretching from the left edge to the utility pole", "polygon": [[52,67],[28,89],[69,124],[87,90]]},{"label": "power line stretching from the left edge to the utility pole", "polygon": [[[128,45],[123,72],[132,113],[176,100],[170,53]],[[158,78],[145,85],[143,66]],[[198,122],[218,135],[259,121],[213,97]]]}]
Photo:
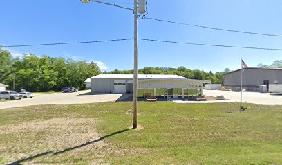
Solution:
[{"label": "power line stretching from the left edge to the utility pole", "polygon": [[69,44],[83,44],[83,43],[104,43],[113,41],[128,41],[133,39],[112,39],[112,40],[100,40],[100,41],[81,41],[81,42],[68,42],[68,43],[40,43],[40,44],[30,44],[30,45],[3,45],[0,47],[32,47],[32,46],[46,46],[46,45],[69,45]]}]

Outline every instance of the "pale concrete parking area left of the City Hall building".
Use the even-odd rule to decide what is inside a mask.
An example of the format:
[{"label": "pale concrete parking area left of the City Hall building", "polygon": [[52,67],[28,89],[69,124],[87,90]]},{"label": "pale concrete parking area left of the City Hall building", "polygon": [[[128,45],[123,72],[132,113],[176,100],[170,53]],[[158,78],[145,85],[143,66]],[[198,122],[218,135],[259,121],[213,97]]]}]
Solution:
[{"label": "pale concrete parking area left of the City Hall building", "polygon": [[74,93],[37,94],[35,98],[23,98],[0,102],[0,109],[23,107],[40,104],[82,104],[93,102],[116,101],[122,94],[90,94],[90,90]]}]

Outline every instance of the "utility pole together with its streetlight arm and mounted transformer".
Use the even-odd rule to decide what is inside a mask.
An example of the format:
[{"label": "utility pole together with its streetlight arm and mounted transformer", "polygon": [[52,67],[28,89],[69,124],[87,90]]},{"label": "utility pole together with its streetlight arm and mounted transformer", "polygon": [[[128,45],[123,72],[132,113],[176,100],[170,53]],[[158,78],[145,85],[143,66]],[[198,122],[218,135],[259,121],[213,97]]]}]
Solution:
[{"label": "utility pole together with its streetlight arm and mounted transformer", "polygon": [[133,76],[133,129],[137,128],[137,88],[138,88],[138,38],[137,38],[137,21],[138,21],[138,7],[139,13],[146,12],[146,0],[134,0],[134,9],[126,8],[121,5],[115,5],[96,0],[80,0],[82,3],[89,3],[89,1],[96,3],[103,3],[105,5],[113,5],[118,8],[132,10],[134,13],[134,76]]}]

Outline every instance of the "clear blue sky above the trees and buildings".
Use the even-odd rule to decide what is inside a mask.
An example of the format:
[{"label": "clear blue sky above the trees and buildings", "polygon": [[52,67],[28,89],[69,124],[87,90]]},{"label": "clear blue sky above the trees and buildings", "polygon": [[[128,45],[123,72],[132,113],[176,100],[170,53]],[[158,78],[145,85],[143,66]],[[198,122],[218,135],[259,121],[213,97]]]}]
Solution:
[{"label": "clear blue sky above the trees and buildings", "polygon": [[[106,0],[104,0],[106,1]],[[129,0],[107,0],[132,7]],[[132,0],[133,3],[133,0]],[[1,1],[0,45],[133,38],[133,12],[98,3],[72,1]],[[216,28],[282,34],[282,1],[147,0],[148,17]],[[255,36],[203,28],[138,21],[138,37],[218,45],[282,48],[282,37]],[[282,52],[139,41],[139,68],[179,67],[223,71],[282,59]],[[97,61],[102,69],[133,69],[133,41],[14,47],[13,54]]]}]

